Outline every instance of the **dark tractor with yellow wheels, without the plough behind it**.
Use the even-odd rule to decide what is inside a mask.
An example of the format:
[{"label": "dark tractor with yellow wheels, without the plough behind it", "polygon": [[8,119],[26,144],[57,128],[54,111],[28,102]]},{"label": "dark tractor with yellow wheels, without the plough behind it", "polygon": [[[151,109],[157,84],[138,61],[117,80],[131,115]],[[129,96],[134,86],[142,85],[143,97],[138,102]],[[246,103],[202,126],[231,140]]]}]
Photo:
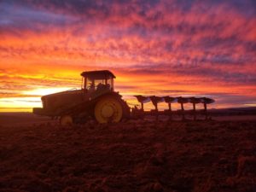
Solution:
[{"label": "dark tractor with yellow wheels, without the plough behind it", "polygon": [[33,113],[59,118],[61,125],[72,124],[87,118],[99,123],[119,122],[129,118],[130,108],[115,92],[115,76],[108,70],[81,73],[81,90],[67,90],[42,96],[43,108],[33,108]]}]

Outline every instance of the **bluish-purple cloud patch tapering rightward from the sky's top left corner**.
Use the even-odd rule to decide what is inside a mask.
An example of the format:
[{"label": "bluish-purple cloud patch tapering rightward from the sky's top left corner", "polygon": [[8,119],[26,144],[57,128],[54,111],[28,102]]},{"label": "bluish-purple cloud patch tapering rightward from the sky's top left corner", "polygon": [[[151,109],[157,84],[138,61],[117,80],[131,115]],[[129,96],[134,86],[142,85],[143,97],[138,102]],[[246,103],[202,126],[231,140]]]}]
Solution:
[{"label": "bluish-purple cloud patch tapering rightward from the sky's top left corner", "polygon": [[22,31],[45,32],[50,27],[62,28],[76,20],[73,16],[8,1],[0,3],[0,18],[0,34],[4,30],[21,37]]}]

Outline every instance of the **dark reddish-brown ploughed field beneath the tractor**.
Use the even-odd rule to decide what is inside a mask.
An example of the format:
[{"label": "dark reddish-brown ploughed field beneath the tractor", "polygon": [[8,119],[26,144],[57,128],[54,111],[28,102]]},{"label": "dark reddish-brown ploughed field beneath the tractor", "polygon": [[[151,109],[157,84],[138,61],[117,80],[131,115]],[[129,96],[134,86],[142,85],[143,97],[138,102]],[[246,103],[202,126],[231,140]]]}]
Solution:
[{"label": "dark reddish-brown ploughed field beneath the tractor", "polygon": [[3,119],[0,191],[256,191],[255,120]]}]

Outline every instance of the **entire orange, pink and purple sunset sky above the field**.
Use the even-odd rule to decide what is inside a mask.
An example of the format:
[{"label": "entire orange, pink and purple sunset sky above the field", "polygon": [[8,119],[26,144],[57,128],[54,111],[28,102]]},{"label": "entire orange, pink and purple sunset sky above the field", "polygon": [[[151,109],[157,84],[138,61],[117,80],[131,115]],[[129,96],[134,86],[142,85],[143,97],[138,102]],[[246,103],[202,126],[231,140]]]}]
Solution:
[{"label": "entire orange, pink and purple sunset sky above the field", "polygon": [[[256,107],[254,0],[0,0],[0,111],[80,89],[108,69],[133,95],[208,96]],[[190,108],[190,107],[189,107]]]}]

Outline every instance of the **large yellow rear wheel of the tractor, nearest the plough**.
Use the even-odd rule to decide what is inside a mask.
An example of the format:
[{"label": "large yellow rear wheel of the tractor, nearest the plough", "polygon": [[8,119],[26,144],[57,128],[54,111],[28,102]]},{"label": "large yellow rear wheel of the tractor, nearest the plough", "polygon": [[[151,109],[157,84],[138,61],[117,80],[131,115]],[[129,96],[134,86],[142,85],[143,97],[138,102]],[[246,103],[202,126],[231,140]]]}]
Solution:
[{"label": "large yellow rear wheel of the tractor, nearest the plough", "polygon": [[108,122],[119,122],[122,119],[123,110],[120,102],[111,97],[103,97],[96,103],[96,120],[103,124]]}]

